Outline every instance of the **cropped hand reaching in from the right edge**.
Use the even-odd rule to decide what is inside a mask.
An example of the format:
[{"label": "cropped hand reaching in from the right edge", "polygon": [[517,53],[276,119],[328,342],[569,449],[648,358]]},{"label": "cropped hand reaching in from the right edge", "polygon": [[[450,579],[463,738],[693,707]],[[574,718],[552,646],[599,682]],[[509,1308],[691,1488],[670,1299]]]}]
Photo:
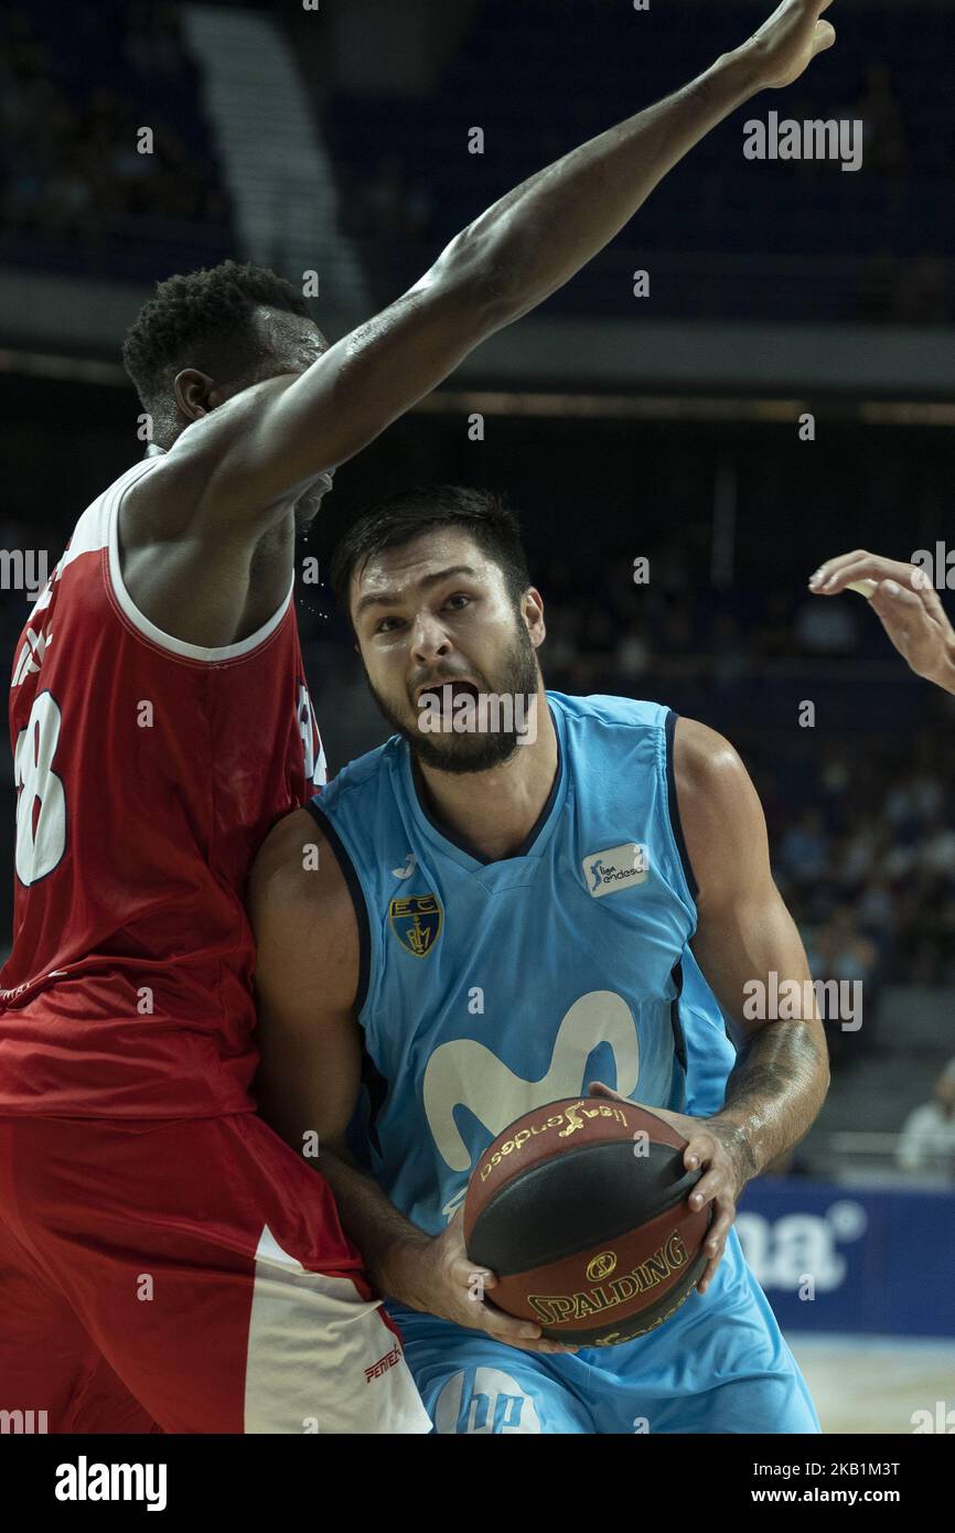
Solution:
[{"label": "cropped hand reaching in from the right edge", "polygon": [[816,596],[858,590],[869,598],[892,644],[915,671],[955,694],[955,629],[923,569],[855,549],[826,560],[809,579]]}]

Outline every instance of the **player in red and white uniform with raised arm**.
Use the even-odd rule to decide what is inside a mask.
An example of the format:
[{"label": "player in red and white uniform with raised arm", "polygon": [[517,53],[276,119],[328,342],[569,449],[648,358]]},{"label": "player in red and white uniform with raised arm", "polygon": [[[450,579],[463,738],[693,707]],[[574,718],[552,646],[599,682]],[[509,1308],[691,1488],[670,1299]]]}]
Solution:
[{"label": "player in red and white uniform with raised arm", "polygon": [[328,346],[231,262],[161,284],[124,360],[152,455],[80,518],[14,658],[0,975],[0,1410],[55,1432],[418,1432],[325,1179],[254,1114],[258,842],[311,794],[296,523],[336,464],[596,254],[831,0],[783,0],[667,101],[523,182]]}]

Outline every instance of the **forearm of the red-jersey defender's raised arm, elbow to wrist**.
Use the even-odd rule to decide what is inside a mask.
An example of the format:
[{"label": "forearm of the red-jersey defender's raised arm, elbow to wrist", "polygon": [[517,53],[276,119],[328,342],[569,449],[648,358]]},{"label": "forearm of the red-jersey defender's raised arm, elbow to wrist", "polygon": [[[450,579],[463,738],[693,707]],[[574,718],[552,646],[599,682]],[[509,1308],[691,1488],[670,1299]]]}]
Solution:
[{"label": "forearm of the red-jersey defender's raised arm, elbow to wrist", "polygon": [[745,49],[674,95],[564,155],[495,202],[448,247],[510,322],[581,270],[668,170],[759,89]]}]

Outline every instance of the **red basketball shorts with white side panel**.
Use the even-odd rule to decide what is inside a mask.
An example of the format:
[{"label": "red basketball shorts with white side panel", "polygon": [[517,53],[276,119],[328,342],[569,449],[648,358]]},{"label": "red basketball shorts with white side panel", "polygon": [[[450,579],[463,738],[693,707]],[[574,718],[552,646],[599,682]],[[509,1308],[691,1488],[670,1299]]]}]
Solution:
[{"label": "red basketball shorts with white side panel", "polygon": [[254,1113],[23,1116],[0,1118],[0,1430],[431,1423],[331,1188]]}]

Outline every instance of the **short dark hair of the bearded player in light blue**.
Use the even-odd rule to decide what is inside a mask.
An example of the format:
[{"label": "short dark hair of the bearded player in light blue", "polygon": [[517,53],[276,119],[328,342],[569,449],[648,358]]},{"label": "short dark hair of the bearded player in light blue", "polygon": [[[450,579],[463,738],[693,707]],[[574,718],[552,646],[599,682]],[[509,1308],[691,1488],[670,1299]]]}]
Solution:
[{"label": "short dark hair of the bearded player in light blue", "polygon": [[331,555],[330,578],[342,612],[350,612],[351,578],[385,549],[400,549],[425,532],[458,527],[500,567],[517,606],[530,586],[520,521],[497,491],[428,484],[402,491],[365,510]]}]

